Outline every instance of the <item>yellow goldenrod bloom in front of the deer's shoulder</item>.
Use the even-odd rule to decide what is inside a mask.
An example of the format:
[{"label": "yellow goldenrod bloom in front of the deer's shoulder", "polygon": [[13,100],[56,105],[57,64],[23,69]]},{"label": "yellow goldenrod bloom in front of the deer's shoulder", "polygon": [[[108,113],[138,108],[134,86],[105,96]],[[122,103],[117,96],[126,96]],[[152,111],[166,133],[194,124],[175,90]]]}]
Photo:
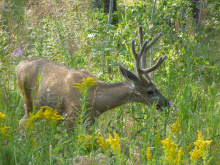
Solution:
[{"label": "yellow goldenrod bloom in front of the deer's shoulder", "polygon": [[82,83],[74,83],[74,88],[80,91],[87,91],[90,87],[98,85],[93,77],[87,77],[82,79]]}]

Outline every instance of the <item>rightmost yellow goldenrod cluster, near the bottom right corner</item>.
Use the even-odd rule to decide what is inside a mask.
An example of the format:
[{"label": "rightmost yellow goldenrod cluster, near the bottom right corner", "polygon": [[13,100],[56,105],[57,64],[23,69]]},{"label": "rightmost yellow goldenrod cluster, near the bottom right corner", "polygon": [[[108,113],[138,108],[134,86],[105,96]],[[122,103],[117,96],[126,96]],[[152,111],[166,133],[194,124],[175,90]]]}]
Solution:
[{"label": "rightmost yellow goldenrod cluster, near the bottom right corner", "polygon": [[210,145],[211,141],[204,141],[204,138],[202,137],[202,134],[198,132],[198,140],[196,140],[196,142],[194,142],[195,145],[195,149],[192,152],[189,152],[189,154],[191,155],[190,160],[191,161],[197,161],[199,160],[203,154],[206,154],[209,150],[208,147]]}]

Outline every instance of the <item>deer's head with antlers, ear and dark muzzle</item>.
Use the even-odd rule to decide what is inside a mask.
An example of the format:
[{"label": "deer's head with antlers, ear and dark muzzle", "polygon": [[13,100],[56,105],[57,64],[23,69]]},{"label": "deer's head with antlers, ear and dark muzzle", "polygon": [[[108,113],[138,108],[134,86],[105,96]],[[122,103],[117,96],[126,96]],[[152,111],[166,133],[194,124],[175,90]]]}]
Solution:
[{"label": "deer's head with antlers, ear and dark muzzle", "polygon": [[120,71],[125,79],[131,81],[133,92],[135,93],[135,101],[152,106],[154,102],[157,103],[157,110],[163,111],[163,106],[168,105],[167,99],[158,91],[154,83],[152,83],[149,73],[156,70],[166,60],[167,56],[160,57],[157,63],[150,68],[147,68],[146,55],[147,51],[154,45],[154,43],[161,37],[162,33],[156,36],[148,43],[143,42],[142,26],[139,27],[140,52],[136,53],[135,40],[132,40],[132,53],[135,60],[135,72],[133,74],[129,70],[119,65]]}]

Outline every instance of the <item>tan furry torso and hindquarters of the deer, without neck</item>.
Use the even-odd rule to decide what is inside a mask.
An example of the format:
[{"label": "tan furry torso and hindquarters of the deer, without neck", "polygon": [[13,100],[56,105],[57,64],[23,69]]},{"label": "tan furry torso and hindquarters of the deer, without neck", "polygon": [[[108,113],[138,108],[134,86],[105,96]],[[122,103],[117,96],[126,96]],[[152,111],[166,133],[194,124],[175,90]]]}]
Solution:
[{"label": "tan furry torso and hindquarters of the deer, without neck", "polygon": [[23,120],[33,111],[34,100],[36,110],[49,106],[61,115],[74,116],[74,109],[80,110],[77,101],[80,94],[73,86],[86,77],[94,76],[84,69],[70,69],[43,58],[22,61],[17,67],[17,79],[25,101],[26,115]]}]

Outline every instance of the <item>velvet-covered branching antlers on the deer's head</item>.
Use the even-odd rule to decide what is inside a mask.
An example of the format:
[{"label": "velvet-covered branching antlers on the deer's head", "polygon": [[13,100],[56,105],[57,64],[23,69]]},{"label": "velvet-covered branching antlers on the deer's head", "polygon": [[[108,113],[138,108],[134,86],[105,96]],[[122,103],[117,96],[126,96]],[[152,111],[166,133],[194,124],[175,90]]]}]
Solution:
[{"label": "velvet-covered branching antlers on the deer's head", "polygon": [[[162,36],[162,33],[157,33],[154,38],[149,42],[144,41],[143,42],[143,30],[142,26],[139,27],[139,41],[140,41],[140,52],[136,53],[135,50],[135,40],[132,40],[131,43],[131,48],[132,48],[132,53],[134,55],[135,59],[135,70],[137,72],[137,75],[139,78],[144,78],[146,80],[146,77],[143,77],[143,75],[148,74],[154,70],[156,70],[163,62],[166,60],[167,56],[165,55],[164,57],[160,57],[160,59],[157,61],[155,65],[153,65],[150,68],[147,68],[146,65],[146,54],[147,51],[154,45],[155,42]],[[141,63],[140,63],[141,62]]]}]

